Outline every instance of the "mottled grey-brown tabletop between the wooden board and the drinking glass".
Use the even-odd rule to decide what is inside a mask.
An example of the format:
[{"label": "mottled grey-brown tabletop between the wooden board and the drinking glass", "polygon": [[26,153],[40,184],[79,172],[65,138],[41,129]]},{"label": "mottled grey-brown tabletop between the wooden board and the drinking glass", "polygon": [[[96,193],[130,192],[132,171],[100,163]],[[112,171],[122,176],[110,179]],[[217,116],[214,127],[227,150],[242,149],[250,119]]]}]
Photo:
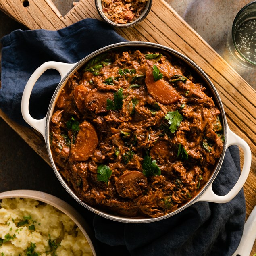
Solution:
[{"label": "mottled grey-brown tabletop between the wooden board and the drinking glass", "polygon": [[[166,1],[212,48],[256,89],[256,67],[248,69],[231,58],[227,35],[239,10],[251,0]],[[201,67],[204,69],[204,67]]]}]

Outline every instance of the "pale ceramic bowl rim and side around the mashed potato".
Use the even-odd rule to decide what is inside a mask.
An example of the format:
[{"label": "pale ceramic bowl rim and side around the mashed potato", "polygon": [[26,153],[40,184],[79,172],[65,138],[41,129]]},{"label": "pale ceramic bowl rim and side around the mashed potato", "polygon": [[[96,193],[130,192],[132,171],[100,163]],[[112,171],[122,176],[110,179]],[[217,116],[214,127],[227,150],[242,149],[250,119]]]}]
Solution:
[{"label": "pale ceramic bowl rim and side around the mashed potato", "polygon": [[65,201],[52,196],[50,194],[35,191],[35,190],[12,190],[0,193],[0,201],[4,198],[30,198],[40,202],[44,202],[51,206],[54,206],[74,221],[74,223],[79,227],[83,235],[88,241],[89,246],[92,249],[93,256],[99,255],[97,252],[96,241],[88,224],[85,222],[83,217],[75,210],[71,205],[67,204]]}]

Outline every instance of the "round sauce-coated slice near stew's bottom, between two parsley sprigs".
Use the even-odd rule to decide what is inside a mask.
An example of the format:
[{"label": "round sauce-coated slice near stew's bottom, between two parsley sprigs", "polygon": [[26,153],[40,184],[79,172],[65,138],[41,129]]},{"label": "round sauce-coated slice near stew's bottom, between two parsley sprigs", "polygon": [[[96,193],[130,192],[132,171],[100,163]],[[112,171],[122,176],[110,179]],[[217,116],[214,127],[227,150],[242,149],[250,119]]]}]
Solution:
[{"label": "round sauce-coated slice near stew's bottom, between two parsley sprigs", "polygon": [[135,198],[142,194],[141,188],[146,188],[148,181],[139,171],[127,171],[117,179],[115,185],[119,196]]}]

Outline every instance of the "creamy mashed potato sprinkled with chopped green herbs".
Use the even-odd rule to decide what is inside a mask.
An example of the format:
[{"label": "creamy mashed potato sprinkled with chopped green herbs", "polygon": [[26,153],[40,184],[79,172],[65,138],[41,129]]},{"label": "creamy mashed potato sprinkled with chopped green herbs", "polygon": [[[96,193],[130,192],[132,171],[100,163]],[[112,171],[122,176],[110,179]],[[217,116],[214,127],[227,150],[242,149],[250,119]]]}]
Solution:
[{"label": "creamy mashed potato sprinkled with chopped green herbs", "polygon": [[91,256],[75,223],[53,206],[27,198],[0,204],[1,256]]}]

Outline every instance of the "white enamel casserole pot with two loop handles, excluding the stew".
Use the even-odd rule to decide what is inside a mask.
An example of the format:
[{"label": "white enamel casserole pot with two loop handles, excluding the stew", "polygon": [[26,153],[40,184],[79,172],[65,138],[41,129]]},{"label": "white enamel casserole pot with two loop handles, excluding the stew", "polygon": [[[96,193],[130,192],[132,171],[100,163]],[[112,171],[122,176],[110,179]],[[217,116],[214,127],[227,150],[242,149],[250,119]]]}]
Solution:
[{"label": "white enamel casserole pot with two loop handles, excluding the stew", "polygon": [[[158,50],[165,50],[169,54],[175,56],[176,58],[180,58],[182,61],[187,63],[191,67],[191,69],[193,69],[194,71],[196,71],[196,73],[198,73],[200,75],[200,77],[203,79],[205,84],[208,85],[208,88],[210,89],[212,95],[214,96],[215,102],[216,102],[219,110],[221,111],[221,117],[223,120],[223,134],[225,136],[225,141],[223,143],[223,152],[222,152],[221,157],[219,158],[218,162],[216,163],[216,167],[215,167],[210,179],[208,180],[208,182],[204,185],[204,187],[201,189],[201,191],[198,193],[198,195],[195,196],[194,198],[192,198],[189,202],[187,202],[180,208],[177,208],[177,210],[175,210],[174,212],[171,212],[165,216],[161,216],[161,217],[153,218],[153,219],[146,218],[146,217],[145,218],[129,218],[129,217],[116,216],[114,214],[109,214],[107,212],[100,211],[100,210],[82,202],[75,195],[75,193],[70,189],[70,187],[67,185],[66,181],[63,179],[63,177],[57,171],[56,166],[54,164],[54,160],[52,158],[51,150],[50,150],[49,125],[50,125],[52,113],[53,113],[54,106],[55,106],[56,100],[58,98],[59,92],[62,89],[62,87],[65,85],[65,83],[67,82],[69,77],[76,70],[78,70],[80,67],[82,67],[88,60],[90,60],[91,58],[94,58],[96,55],[101,54],[102,52],[106,52],[111,49],[120,48],[120,47],[124,47],[124,46],[131,47],[131,48],[149,47],[149,48],[156,48]],[[43,119],[40,119],[40,120],[36,120],[36,119],[33,119],[33,117],[31,117],[31,115],[29,114],[29,98],[30,98],[33,86],[35,85],[35,82],[42,75],[42,73],[44,73],[44,71],[46,71],[47,69],[58,70],[61,75],[61,81],[60,81],[58,87],[56,88],[56,91],[54,92],[54,95],[50,102],[50,106],[48,108],[46,117],[44,117]],[[33,75],[31,75],[29,81],[27,82],[27,85],[23,92],[23,97],[22,97],[22,102],[21,102],[21,111],[22,111],[23,118],[25,119],[25,121],[44,136],[44,139],[46,141],[46,147],[47,147],[48,154],[50,157],[50,162],[52,164],[54,172],[56,173],[58,179],[60,180],[60,183],[65,187],[65,189],[69,192],[69,194],[75,200],[77,200],[77,202],[82,204],[85,208],[91,210],[92,212],[94,212],[96,214],[99,214],[100,216],[103,216],[103,217],[106,217],[108,219],[112,219],[115,221],[121,221],[121,222],[127,222],[127,223],[153,222],[153,221],[158,221],[158,220],[173,216],[174,214],[181,212],[183,209],[187,208],[191,204],[194,204],[195,202],[198,202],[198,201],[208,201],[208,202],[215,202],[215,203],[229,202],[241,190],[244,183],[246,182],[246,179],[247,179],[249,171],[250,171],[251,158],[252,158],[250,148],[249,148],[248,144],[243,139],[241,139],[240,137],[235,135],[235,133],[233,133],[229,129],[229,127],[227,125],[227,119],[225,116],[225,112],[224,112],[224,108],[223,108],[221,99],[219,97],[219,94],[216,91],[216,88],[214,87],[214,85],[212,84],[212,82],[210,81],[208,76],[204,73],[204,71],[202,71],[202,69],[200,67],[198,67],[198,65],[196,65],[193,61],[191,61],[189,58],[187,58],[183,54],[181,54],[171,48],[168,48],[166,46],[159,45],[159,44],[154,44],[154,43],[149,43],[149,42],[122,42],[122,43],[112,44],[110,46],[101,48],[100,50],[97,50],[96,52],[89,54],[87,57],[83,58],[82,60],[80,60],[79,62],[77,62],[75,64],[67,64],[67,63],[60,63],[60,62],[46,62],[43,65],[41,65],[33,73]],[[242,148],[242,150],[244,151],[244,165],[242,168],[242,172],[241,172],[241,175],[240,175],[237,183],[233,187],[233,189],[231,189],[231,191],[229,191],[229,193],[226,194],[225,196],[218,196],[212,190],[212,182],[216,178],[216,175],[218,174],[218,172],[221,168],[221,164],[223,162],[226,149],[229,146],[234,145],[234,144],[240,146]]]}]

